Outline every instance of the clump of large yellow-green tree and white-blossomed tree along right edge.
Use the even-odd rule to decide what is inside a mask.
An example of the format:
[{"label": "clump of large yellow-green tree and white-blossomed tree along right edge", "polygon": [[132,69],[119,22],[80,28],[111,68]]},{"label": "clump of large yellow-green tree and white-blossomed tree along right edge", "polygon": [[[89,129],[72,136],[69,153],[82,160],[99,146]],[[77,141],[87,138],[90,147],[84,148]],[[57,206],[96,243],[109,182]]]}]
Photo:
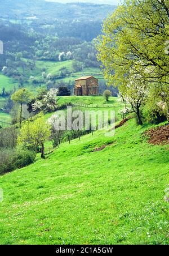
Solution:
[{"label": "clump of large yellow-green tree and white-blossomed tree along right edge", "polygon": [[105,78],[131,104],[140,125],[145,107],[150,120],[164,115],[169,122],[168,28],[168,0],[125,0],[96,42]]}]

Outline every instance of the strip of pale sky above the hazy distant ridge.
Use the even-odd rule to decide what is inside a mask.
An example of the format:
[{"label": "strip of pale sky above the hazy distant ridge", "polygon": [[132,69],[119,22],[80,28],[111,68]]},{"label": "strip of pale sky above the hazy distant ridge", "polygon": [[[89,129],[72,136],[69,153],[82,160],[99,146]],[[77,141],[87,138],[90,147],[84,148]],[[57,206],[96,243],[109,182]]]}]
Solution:
[{"label": "strip of pale sky above the hazy distant ridge", "polygon": [[46,0],[50,2],[58,2],[58,3],[75,3],[75,2],[82,2],[82,3],[104,3],[109,5],[117,5],[120,3],[120,0]]}]

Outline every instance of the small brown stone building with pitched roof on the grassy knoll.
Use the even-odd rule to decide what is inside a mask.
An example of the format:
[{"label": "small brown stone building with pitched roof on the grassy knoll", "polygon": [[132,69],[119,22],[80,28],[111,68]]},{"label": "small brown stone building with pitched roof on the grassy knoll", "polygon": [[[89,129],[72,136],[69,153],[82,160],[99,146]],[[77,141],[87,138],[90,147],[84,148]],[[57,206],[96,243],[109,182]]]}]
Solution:
[{"label": "small brown stone building with pitched roof on the grassy knoll", "polygon": [[94,76],[83,76],[75,79],[74,95],[92,96],[99,95],[99,80]]}]

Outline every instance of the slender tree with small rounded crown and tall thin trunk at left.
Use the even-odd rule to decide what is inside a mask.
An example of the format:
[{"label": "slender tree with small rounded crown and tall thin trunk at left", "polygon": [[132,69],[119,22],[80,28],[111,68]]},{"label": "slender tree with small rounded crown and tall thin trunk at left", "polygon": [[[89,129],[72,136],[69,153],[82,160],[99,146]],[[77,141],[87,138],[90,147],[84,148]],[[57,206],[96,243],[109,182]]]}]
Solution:
[{"label": "slender tree with small rounded crown and tall thin trunk at left", "polygon": [[20,104],[20,126],[22,123],[23,104],[28,103],[31,97],[32,93],[30,93],[26,88],[19,89],[18,91],[14,92],[14,94],[12,94],[11,96],[12,100]]}]

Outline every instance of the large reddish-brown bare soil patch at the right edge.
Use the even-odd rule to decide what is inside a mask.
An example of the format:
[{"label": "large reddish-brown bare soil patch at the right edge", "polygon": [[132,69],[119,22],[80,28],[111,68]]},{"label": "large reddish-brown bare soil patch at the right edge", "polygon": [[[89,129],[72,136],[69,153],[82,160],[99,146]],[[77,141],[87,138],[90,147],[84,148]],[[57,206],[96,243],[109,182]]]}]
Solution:
[{"label": "large reddish-brown bare soil patch at the right edge", "polygon": [[149,137],[150,144],[169,144],[169,124],[145,131],[145,135]]}]

